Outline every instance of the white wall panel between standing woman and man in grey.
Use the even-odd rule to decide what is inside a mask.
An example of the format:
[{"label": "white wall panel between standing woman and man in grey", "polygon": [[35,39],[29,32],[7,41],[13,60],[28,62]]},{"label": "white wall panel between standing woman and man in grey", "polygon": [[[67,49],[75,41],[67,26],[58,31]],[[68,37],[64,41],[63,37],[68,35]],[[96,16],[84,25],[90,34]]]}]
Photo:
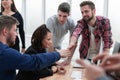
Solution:
[{"label": "white wall panel between standing woman and man in grey", "polygon": [[42,7],[42,0],[26,0],[26,35],[43,23]]}]

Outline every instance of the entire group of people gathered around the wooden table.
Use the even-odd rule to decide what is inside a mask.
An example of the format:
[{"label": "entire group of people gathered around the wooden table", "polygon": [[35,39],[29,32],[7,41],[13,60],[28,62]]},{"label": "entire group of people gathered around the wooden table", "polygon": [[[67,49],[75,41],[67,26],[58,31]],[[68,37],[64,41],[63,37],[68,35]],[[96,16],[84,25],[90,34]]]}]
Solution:
[{"label": "entire group of people gathered around the wooden table", "polygon": [[[69,17],[69,3],[61,3],[57,15],[50,17],[46,24],[40,25],[34,31],[31,46],[25,50],[23,18],[13,0],[1,0],[0,80],[39,80],[53,75],[61,68],[64,70],[63,66],[71,62],[80,35],[82,35],[80,60],[77,62],[85,66],[86,78],[116,80],[119,77],[117,72],[120,70],[120,55],[109,56],[113,44],[109,19],[96,16],[95,4],[92,1],[83,1],[80,10],[83,18],[75,25],[74,20]],[[17,29],[22,41],[21,52],[24,54],[20,53]],[[61,49],[61,43],[68,32],[70,32],[68,48]],[[56,63],[61,57],[67,57],[61,63],[62,66]],[[101,62],[96,66],[85,63],[83,59]],[[17,76],[16,69],[19,69]],[[112,74],[113,72],[115,74]]]}]

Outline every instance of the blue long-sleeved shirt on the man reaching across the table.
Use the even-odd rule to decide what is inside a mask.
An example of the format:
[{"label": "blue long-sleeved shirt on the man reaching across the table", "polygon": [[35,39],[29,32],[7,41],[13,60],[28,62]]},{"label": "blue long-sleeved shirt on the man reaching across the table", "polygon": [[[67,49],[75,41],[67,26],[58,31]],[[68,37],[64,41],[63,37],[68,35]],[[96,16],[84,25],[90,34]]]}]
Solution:
[{"label": "blue long-sleeved shirt on the man reaching across the table", "polygon": [[28,55],[0,42],[0,80],[15,80],[16,69],[39,70],[60,59],[58,52]]}]

